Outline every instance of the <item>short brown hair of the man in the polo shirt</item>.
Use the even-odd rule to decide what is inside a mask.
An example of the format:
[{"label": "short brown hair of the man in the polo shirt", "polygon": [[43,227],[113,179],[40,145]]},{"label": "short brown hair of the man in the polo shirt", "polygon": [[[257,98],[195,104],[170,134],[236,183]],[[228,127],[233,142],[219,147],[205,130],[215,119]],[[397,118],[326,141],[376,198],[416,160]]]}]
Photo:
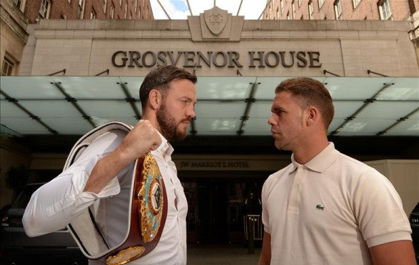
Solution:
[{"label": "short brown hair of the man in the polo shirt", "polygon": [[318,80],[312,78],[290,78],[282,81],[275,89],[275,94],[279,92],[290,92],[293,96],[300,99],[302,108],[315,106],[320,110],[326,130],[335,115],[332,96],[328,89]]}]

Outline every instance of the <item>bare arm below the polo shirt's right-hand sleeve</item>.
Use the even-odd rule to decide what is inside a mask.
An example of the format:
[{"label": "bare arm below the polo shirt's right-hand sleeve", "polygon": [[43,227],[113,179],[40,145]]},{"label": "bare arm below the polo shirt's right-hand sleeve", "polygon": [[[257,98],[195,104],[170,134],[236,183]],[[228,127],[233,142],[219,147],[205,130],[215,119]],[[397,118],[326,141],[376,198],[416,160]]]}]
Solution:
[{"label": "bare arm below the polo shirt's right-hand sleeve", "polygon": [[379,265],[415,265],[416,259],[411,241],[393,241],[369,248],[372,262]]}]

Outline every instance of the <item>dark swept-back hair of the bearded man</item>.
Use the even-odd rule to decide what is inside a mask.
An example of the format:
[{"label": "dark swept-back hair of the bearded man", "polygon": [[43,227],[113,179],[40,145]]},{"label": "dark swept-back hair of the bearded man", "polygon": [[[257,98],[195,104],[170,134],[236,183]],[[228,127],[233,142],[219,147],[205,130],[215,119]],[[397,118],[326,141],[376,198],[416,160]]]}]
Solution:
[{"label": "dark swept-back hair of the bearded man", "polygon": [[181,79],[187,79],[194,84],[196,83],[195,75],[176,66],[166,65],[152,69],[152,71],[145,76],[140,87],[142,109],[144,110],[145,106],[147,106],[147,99],[152,89],[159,90],[164,97],[170,87],[170,82]]}]

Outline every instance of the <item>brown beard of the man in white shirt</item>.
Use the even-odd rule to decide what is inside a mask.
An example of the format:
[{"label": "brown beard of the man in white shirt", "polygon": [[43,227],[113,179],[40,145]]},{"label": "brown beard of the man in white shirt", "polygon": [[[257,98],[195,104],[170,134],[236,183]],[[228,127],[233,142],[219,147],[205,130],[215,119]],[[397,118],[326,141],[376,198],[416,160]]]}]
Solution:
[{"label": "brown beard of the man in white shirt", "polygon": [[182,141],[186,137],[186,129],[181,130],[177,127],[181,122],[189,121],[191,122],[191,118],[186,118],[177,122],[175,117],[170,115],[168,109],[166,108],[166,104],[162,104],[161,108],[157,110],[156,113],[157,122],[159,122],[159,127],[161,129],[161,134],[168,140],[168,141]]}]

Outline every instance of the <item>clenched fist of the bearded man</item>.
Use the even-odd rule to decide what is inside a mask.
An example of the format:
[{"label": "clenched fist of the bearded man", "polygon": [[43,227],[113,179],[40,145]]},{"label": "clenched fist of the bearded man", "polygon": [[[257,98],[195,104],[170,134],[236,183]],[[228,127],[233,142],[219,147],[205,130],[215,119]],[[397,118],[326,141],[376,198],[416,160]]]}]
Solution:
[{"label": "clenched fist of the bearded man", "polygon": [[161,145],[159,133],[149,120],[140,120],[117,148],[124,159],[132,162]]}]

